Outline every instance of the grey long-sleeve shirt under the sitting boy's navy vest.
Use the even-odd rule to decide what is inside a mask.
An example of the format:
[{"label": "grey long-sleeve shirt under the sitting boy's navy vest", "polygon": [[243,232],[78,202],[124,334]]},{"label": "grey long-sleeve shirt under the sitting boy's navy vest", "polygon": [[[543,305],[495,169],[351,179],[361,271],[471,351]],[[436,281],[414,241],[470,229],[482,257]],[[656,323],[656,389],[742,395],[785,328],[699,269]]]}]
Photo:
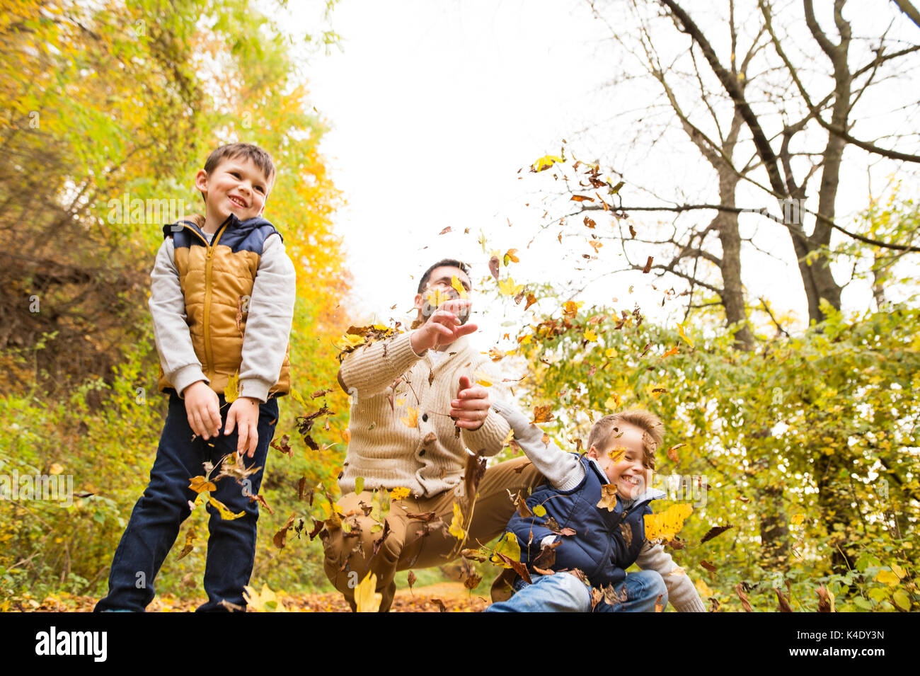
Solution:
[{"label": "grey long-sleeve shirt under the sitting boy's navy vest", "polygon": [[[491,407],[508,420],[508,424],[514,430],[514,441],[518,442],[523,453],[540,471],[540,474],[546,476],[546,481],[553,487],[559,490],[571,490],[581,484],[584,467],[576,456],[564,452],[551,440],[545,444],[543,430],[532,425],[526,416],[516,408],[500,401],[493,401]],[[605,476],[601,466],[599,464],[596,466]],[[554,539],[555,537],[553,536]],[[706,612],[706,606],[699,598],[693,582],[683,573],[672,575],[672,571],[678,566],[671,555],[664,551],[661,544],[650,544],[646,541],[636,559],[636,565],[642,570],[655,570],[661,575],[668,588],[668,601],[678,613]]]}]

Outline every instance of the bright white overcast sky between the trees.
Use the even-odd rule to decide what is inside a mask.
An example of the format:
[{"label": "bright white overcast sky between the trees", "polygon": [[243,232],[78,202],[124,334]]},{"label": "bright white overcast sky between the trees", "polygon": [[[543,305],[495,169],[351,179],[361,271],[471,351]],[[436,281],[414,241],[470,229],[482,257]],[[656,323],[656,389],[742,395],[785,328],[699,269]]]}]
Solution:
[{"label": "bright white overcast sky between the trees", "polygon": [[[310,21],[306,11],[293,12],[292,29],[304,30]],[[549,187],[552,179],[548,172],[528,175],[526,167],[537,157],[557,154],[563,138],[573,143],[569,147],[576,155],[588,155],[584,159],[603,155],[606,149],[598,146],[604,134],[610,138],[618,131],[593,125],[630,104],[625,87],[620,96],[610,89],[600,92],[618,64],[604,52],[607,29],[592,19],[586,3],[341,0],[331,23],[343,49],[313,56],[306,74],[313,103],[332,126],[322,149],[348,201],[336,227],[361,308],[356,319],[406,318],[402,312],[411,305],[420,271],[448,256],[474,264],[475,285],[488,275],[492,249],[519,250],[521,263],[502,272],[515,281],[570,280],[582,274],[588,281],[622,265],[609,243],[589,269],[576,270],[584,265],[581,254],[593,253],[581,225],[584,232],[565,245],[559,245],[559,228],[553,227],[527,248],[545,209],[535,191]],[[653,170],[661,172],[664,185],[692,176],[698,171],[695,161],[675,151]],[[648,178],[649,168],[643,171]],[[864,184],[864,177],[865,163],[854,167],[851,180]],[[846,211],[846,204],[842,207]],[[634,216],[638,226],[644,223],[644,216]],[[711,215],[702,212],[699,218]],[[452,232],[438,235],[447,226]],[[604,226],[612,232],[599,219],[598,228]],[[488,238],[486,253],[477,244],[480,232]],[[786,246],[791,252],[788,237],[766,235],[761,246],[788,254]],[[777,310],[807,316],[798,273],[790,268],[793,258],[785,258],[780,263],[761,256],[756,267],[744,269],[749,296],[765,294]],[[659,292],[650,289],[651,283]],[[631,296],[630,285],[635,285]],[[675,281],[665,286],[671,285],[685,288]],[[661,281],[649,275],[607,277],[590,284],[580,300],[610,303],[613,298],[617,308],[629,309],[638,301],[646,315],[669,323],[683,316],[677,302],[661,308]],[[868,292],[848,290],[845,302],[867,307]],[[393,304],[397,309],[390,311]],[[479,320],[483,346],[508,330],[498,326],[503,317],[494,311],[499,309]]]}]

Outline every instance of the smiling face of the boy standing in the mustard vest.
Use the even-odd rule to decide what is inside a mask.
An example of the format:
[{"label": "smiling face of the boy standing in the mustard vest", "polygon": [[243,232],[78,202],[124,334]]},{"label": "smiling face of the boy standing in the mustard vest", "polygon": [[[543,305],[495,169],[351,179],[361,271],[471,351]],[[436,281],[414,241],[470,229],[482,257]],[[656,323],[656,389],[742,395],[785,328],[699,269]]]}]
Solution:
[{"label": "smiling face of the boy standing in the mustard vest", "polygon": [[262,215],[271,183],[248,157],[230,157],[224,158],[210,176],[201,169],[195,187],[205,194],[208,213],[223,223],[231,213],[240,221]]}]

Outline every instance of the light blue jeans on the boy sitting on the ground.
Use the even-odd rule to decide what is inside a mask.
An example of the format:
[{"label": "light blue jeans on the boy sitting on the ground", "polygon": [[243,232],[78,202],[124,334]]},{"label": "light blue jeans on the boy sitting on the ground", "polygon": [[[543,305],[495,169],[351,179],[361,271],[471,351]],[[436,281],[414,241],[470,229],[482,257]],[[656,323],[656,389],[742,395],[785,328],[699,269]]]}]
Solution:
[{"label": "light blue jeans on the boy sitting on the ground", "polygon": [[[492,603],[487,613],[591,613],[591,591],[580,579],[569,573],[535,575],[533,584],[518,578],[514,595],[504,602]],[[668,603],[668,590],[661,575],[654,570],[627,573],[627,578],[615,585],[626,601],[614,604],[599,602],[594,613],[649,613],[661,594],[662,605]]]}]

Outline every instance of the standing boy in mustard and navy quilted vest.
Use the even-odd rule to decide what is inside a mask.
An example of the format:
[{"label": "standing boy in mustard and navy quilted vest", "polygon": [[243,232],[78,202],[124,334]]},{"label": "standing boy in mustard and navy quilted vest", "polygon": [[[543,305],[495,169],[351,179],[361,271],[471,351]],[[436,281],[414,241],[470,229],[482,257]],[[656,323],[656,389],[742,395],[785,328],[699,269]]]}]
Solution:
[{"label": "standing boy in mustard and navy quilted vest", "polygon": [[[144,611],[153,601],[156,573],[198,497],[190,479],[208,476],[209,464],[211,497],[243,516],[224,519],[207,505],[208,601],[198,610],[246,609],[243,587],[259,518],[254,496],[278,421],[276,397],[290,390],[293,262],[281,233],[261,218],[274,178],[271,157],[258,146],[217,148],[195,177],[204,217],[163,228],[150,312],[158,386],[169,395],[169,411],[150,483],[121,536],[98,612]],[[229,393],[237,395],[231,404]],[[236,476],[215,481],[224,458]]]}]

